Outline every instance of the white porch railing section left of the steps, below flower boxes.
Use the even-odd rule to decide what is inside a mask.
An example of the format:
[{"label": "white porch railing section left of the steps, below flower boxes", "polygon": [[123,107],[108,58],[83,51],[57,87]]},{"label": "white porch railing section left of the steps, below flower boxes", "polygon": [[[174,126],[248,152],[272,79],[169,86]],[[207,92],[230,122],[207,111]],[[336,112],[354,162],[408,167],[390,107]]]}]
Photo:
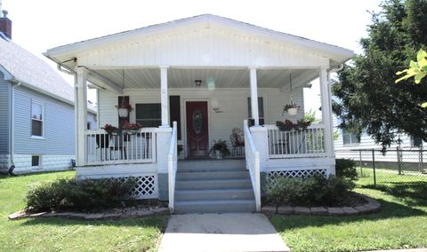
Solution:
[{"label": "white porch railing section left of the steps, below flower boxes", "polygon": [[109,135],[105,130],[85,131],[85,164],[149,163],[156,161],[156,128],[123,130]]}]

